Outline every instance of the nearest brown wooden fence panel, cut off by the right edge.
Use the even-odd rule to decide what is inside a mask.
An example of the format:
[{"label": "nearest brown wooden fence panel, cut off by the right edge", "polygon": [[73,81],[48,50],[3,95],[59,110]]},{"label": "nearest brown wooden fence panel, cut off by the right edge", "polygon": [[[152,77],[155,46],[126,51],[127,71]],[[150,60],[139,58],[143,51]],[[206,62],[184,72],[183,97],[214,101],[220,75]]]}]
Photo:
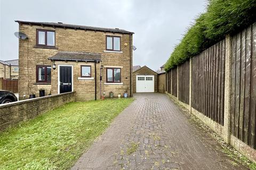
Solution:
[{"label": "nearest brown wooden fence panel, cut off by the right edge", "polygon": [[256,23],[232,37],[230,131],[252,148],[256,121]]}]

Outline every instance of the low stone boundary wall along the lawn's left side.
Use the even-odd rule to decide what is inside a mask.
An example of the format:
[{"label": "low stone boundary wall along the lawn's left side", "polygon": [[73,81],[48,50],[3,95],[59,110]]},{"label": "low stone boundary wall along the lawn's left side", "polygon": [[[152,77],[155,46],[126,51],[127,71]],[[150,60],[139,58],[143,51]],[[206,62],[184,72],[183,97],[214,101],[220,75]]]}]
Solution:
[{"label": "low stone boundary wall along the lawn's left side", "polygon": [[0,105],[0,131],[28,121],[39,114],[75,101],[75,92],[15,101]]}]

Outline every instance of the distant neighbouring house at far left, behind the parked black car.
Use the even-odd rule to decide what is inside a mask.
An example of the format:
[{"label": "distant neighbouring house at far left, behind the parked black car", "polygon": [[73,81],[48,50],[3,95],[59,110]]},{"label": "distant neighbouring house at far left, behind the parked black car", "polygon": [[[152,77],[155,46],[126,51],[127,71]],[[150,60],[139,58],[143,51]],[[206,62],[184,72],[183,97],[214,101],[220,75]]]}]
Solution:
[{"label": "distant neighbouring house at far left, behind the parked black car", "polygon": [[18,79],[19,78],[19,60],[0,60],[0,78]]}]

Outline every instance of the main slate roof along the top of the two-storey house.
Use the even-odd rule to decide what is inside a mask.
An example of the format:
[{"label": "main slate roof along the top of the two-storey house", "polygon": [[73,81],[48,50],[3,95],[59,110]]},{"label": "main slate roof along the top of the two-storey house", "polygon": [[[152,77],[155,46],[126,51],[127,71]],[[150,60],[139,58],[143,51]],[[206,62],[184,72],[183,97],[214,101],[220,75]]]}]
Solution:
[{"label": "main slate roof along the top of the two-storey house", "polygon": [[42,25],[42,26],[59,27],[59,28],[71,28],[71,29],[116,32],[116,33],[132,33],[132,34],[134,33],[134,32],[126,31],[123,29],[118,29],[118,28],[91,27],[91,26],[85,26],[85,25],[66,24],[62,22],[31,22],[31,21],[20,21],[20,20],[16,20],[15,22],[18,22],[19,24]]}]

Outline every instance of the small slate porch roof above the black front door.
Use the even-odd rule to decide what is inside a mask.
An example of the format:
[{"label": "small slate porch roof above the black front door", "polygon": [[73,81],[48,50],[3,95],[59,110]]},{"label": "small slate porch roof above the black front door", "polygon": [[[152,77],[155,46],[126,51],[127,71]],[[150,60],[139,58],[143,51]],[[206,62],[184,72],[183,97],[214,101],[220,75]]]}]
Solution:
[{"label": "small slate porch roof above the black front door", "polygon": [[49,60],[60,60],[60,61],[101,61],[101,54],[99,53],[84,53],[84,52],[58,52]]}]

